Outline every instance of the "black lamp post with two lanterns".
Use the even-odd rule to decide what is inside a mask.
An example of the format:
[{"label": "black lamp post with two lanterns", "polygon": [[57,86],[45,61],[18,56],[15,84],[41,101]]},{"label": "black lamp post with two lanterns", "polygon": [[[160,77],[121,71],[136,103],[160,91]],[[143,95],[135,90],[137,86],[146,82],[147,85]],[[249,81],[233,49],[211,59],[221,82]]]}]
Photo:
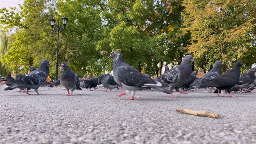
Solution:
[{"label": "black lamp post with two lanterns", "polygon": [[59,46],[59,32],[62,32],[65,29],[65,26],[67,24],[68,18],[66,18],[66,16],[64,16],[63,18],[61,18],[63,21],[63,28],[60,27],[59,25],[59,20],[57,21],[57,27],[53,28],[54,23],[56,20],[54,20],[53,18],[49,19],[50,21],[50,25],[52,27],[52,32],[57,32],[57,50],[56,50],[56,80],[58,80],[58,46]]}]

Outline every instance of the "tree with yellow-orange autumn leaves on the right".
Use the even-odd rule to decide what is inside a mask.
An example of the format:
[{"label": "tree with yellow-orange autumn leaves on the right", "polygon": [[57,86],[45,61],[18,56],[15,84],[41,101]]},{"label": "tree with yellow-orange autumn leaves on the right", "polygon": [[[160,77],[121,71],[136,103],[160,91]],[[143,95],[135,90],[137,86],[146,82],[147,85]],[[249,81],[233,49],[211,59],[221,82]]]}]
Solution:
[{"label": "tree with yellow-orange autumn leaves on the right", "polygon": [[[255,0],[184,0],[184,34],[191,34],[188,50],[209,64],[222,60],[222,71],[242,60],[246,66],[255,55]],[[202,61],[200,62],[202,63]],[[203,64],[204,65],[204,64]]]}]

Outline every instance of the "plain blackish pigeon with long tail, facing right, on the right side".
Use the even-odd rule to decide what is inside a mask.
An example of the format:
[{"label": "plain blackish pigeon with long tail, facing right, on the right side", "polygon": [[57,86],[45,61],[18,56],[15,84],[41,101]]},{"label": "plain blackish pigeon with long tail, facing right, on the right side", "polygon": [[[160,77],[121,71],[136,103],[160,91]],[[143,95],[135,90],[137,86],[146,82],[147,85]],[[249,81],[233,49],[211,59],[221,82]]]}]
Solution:
[{"label": "plain blackish pigeon with long tail, facing right, on the right side", "polygon": [[[241,61],[236,62],[234,67],[228,72],[221,74],[212,81],[201,83],[200,86],[206,87],[216,87],[218,89],[218,96],[220,95],[220,90],[227,90],[229,97],[235,97],[230,94],[230,89],[236,85],[240,78],[240,67],[243,66]],[[191,84],[194,85],[194,84]]]}]

